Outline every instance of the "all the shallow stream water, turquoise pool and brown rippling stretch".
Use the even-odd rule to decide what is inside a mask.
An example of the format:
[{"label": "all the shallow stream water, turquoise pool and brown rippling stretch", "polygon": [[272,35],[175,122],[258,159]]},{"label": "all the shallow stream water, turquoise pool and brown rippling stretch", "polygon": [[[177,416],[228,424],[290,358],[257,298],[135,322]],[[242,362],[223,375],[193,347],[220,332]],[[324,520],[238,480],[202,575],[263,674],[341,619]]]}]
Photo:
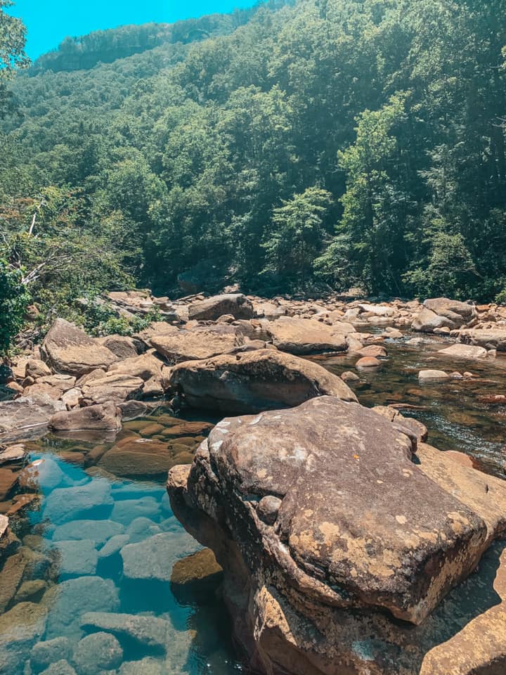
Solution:
[{"label": "all the shallow stream water, turquoise pool and brown rippling stretch", "polygon": [[[361,381],[351,387],[361,403],[402,406],[404,415],[427,425],[430,443],[442,450],[465,451],[483,470],[504,477],[506,406],[491,406],[479,397],[506,392],[506,356],[443,359],[436,350],[453,344],[450,340],[427,337],[422,345],[411,346],[406,344],[409,337],[387,340],[389,356],[374,370],[356,371],[356,356],[311,358],[338,374],[358,372]],[[476,377],[420,384],[417,373],[422,368],[470,371]],[[39,499],[12,523],[22,544],[35,552],[24,580],[44,581],[29,598],[48,608],[41,641],[67,638],[66,658],[73,663],[82,660],[83,651],[86,657],[86,642],[77,649],[79,641],[98,630],[86,623],[86,612],[167,622],[162,624],[167,630],[166,653],[160,646],[117,634],[120,662],[100,670],[93,665],[91,643],[89,675],[231,675],[243,670],[217,592],[219,575],[184,586],[171,581],[174,563],[200,546],[171,512],[167,470],[190,463],[216,421],[189,411],[179,419],[161,408],[149,418],[125,423],[115,439],[48,436],[27,444],[32,464],[23,473],[20,492],[38,494]],[[3,574],[0,582],[6,583]],[[11,600],[6,609],[19,600]],[[21,646],[13,642],[2,652],[0,635],[0,675],[30,673],[25,665],[37,640]],[[39,671],[41,667],[32,670]],[[77,671],[88,675],[86,664]]]}]

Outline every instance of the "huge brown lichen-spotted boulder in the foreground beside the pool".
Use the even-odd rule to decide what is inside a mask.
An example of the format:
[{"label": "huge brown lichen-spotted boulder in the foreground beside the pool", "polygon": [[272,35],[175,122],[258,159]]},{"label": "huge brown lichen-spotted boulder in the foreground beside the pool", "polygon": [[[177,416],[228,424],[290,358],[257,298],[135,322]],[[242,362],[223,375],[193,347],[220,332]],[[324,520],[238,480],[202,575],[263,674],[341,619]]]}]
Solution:
[{"label": "huge brown lichen-spotted boulder in the foreground beside the pool", "polygon": [[[223,494],[205,496],[208,481]],[[415,624],[467,577],[487,545],[484,520],[427,480],[406,435],[332,397],[219,423],[195,458],[188,490],[210,517],[219,508],[229,513],[249,565],[265,555],[251,536],[240,541],[253,528],[292,588],[329,605],[387,608]],[[245,506],[258,494],[283,499],[273,530]]]}]

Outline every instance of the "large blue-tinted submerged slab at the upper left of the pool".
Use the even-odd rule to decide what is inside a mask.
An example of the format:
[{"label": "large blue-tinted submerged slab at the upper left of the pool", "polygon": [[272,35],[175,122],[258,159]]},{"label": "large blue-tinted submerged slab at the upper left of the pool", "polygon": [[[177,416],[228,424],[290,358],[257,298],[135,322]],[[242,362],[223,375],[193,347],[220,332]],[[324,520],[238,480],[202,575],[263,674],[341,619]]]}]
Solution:
[{"label": "large blue-tinted submerged slab at the upper left of the pool", "polygon": [[79,518],[100,506],[112,506],[112,503],[108,480],[96,479],[85,485],[51,492],[46,499],[44,518],[55,523],[65,522]]}]

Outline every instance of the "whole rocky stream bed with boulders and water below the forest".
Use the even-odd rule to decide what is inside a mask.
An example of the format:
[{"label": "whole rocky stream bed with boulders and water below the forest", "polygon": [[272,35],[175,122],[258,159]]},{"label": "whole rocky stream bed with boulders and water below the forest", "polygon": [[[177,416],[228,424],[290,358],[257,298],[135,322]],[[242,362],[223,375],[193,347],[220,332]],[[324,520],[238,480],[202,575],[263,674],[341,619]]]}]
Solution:
[{"label": "whole rocky stream bed with boulders and water below the forest", "polygon": [[111,296],[6,378],[0,675],[506,672],[503,308]]}]

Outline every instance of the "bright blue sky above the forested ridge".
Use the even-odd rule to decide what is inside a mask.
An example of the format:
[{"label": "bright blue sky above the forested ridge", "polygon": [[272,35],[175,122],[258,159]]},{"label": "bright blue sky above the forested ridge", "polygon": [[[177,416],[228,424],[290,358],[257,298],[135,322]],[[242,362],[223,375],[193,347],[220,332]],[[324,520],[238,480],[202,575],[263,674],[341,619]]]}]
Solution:
[{"label": "bright blue sky above the forested ridge", "polygon": [[34,59],[57,47],[67,35],[129,23],[172,23],[253,4],[254,0],[16,0],[8,12],[24,21],[26,51]]}]

